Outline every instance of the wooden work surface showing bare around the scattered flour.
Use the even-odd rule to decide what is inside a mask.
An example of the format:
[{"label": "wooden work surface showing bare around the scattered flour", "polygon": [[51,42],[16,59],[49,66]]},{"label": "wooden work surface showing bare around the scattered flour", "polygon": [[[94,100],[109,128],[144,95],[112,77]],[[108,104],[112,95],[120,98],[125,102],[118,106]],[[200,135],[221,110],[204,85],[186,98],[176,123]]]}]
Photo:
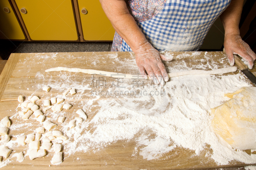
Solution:
[{"label": "wooden work surface showing bare around the scattered flour", "polygon": [[[222,52],[166,52],[166,55],[172,55],[172,62],[164,62],[167,68],[167,72],[170,72],[170,68],[174,70],[179,69],[200,69],[211,70],[211,68],[228,67],[229,64],[226,59],[226,55]],[[13,116],[17,114],[19,95],[25,96],[26,100],[28,96],[39,96],[40,101],[37,105],[42,106],[44,99],[49,99],[53,96],[61,94],[65,89],[61,89],[61,84],[70,84],[76,82],[78,85],[86,86],[92,83],[92,75],[83,73],[67,73],[67,72],[51,72],[46,73],[45,70],[53,67],[70,67],[70,68],[83,68],[104,70],[111,72],[119,72],[126,74],[136,74],[138,69],[135,63],[135,56],[130,52],[79,52],[79,53],[28,53],[28,54],[12,54],[6,63],[4,70],[0,76],[0,119],[5,116]],[[236,71],[237,74],[241,71]],[[252,72],[255,74],[256,69],[253,67]],[[62,75],[68,75],[68,79],[65,79]],[[72,76],[74,75],[74,76]],[[243,75],[244,76],[244,75]],[[95,76],[99,77],[99,76]],[[245,77],[245,76],[244,76]],[[111,85],[113,78],[104,77],[106,80],[107,88]],[[170,81],[170,80],[169,80]],[[246,80],[245,80],[246,81]],[[249,80],[247,80],[249,82]],[[47,84],[60,84],[59,89],[51,89],[50,92],[44,92],[42,90],[43,85]],[[145,84],[151,84],[151,80],[145,80]],[[38,87],[40,85],[40,88]],[[103,88],[104,89],[104,88]],[[83,100],[90,100],[90,91],[85,90],[84,93],[77,94],[78,98],[69,98],[70,102],[77,103]],[[75,96],[75,95],[74,95]],[[100,99],[106,99],[108,97],[101,96]],[[115,97],[112,97],[115,98]],[[72,118],[74,111],[79,109],[81,105],[74,105],[69,111],[70,114],[66,115],[66,120],[69,121]],[[91,112],[87,112],[88,119],[92,120],[93,116],[97,113],[97,107]],[[74,115],[74,114],[73,114]],[[12,125],[18,124],[20,121],[19,116],[13,116],[11,119]],[[23,121],[23,120],[22,120]],[[31,123],[35,129],[38,126],[38,122],[34,119],[28,119],[28,123]],[[24,122],[24,121],[23,121]],[[54,122],[54,121],[53,121]],[[57,123],[57,120],[55,121]],[[11,127],[12,127],[11,125]],[[59,125],[56,129],[60,129]],[[25,133],[25,135],[32,133],[31,128],[10,130],[9,135],[12,136],[11,140],[15,140],[15,135]],[[138,134],[139,135],[139,134]],[[206,153],[210,153],[210,146],[206,146],[205,150],[199,155],[194,155],[195,152],[185,148],[177,147],[175,150],[163,155],[165,159],[143,159],[139,153],[134,154],[135,141],[117,141],[116,143],[108,145],[108,147],[98,152],[76,152],[67,157],[65,155],[65,148],[63,150],[64,161],[59,166],[51,166],[50,160],[53,152],[47,153],[45,158],[37,158],[30,160],[28,156],[23,162],[17,162],[16,158],[12,158],[7,166],[2,169],[203,169],[203,168],[220,168],[231,166],[245,166],[245,164],[231,161],[229,165],[218,166],[212,159],[205,157]],[[27,146],[16,147],[17,144],[13,144],[15,149],[11,153],[27,151]],[[11,148],[12,149],[12,148]],[[15,151],[15,152],[14,152]],[[93,149],[91,149],[93,151]],[[249,154],[250,151],[246,151]],[[169,157],[167,157],[169,155]],[[10,158],[9,157],[9,158]],[[77,159],[77,158],[80,159]],[[6,159],[3,159],[6,160]],[[233,168],[234,169],[234,168]]]}]

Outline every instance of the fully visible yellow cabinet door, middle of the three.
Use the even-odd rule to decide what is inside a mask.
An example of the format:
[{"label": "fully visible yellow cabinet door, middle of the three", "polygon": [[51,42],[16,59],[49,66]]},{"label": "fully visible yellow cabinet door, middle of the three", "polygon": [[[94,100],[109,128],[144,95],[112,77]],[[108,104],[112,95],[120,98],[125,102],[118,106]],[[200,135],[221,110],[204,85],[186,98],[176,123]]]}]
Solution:
[{"label": "fully visible yellow cabinet door, middle of the three", "polygon": [[[76,41],[71,0],[15,0],[32,40]],[[24,13],[22,13],[24,12]]]}]

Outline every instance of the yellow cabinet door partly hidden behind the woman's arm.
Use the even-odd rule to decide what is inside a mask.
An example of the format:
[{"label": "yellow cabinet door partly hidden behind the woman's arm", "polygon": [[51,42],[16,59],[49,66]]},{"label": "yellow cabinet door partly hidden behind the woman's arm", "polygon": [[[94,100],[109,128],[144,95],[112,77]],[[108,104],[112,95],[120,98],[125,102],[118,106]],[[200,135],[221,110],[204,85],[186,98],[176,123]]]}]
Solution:
[{"label": "yellow cabinet door partly hidden behind the woman's arm", "polygon": [[[104,13],[99,0],[78,0],[84,40],[113,41],[115,30]],[[82,10],[87,13],[83,14]]]}]

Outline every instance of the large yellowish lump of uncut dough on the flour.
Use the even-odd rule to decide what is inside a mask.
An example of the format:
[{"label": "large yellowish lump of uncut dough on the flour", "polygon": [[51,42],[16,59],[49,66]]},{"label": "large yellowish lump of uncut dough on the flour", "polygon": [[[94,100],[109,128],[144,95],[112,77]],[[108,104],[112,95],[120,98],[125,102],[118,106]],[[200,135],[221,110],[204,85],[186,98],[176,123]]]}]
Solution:
[{"label": "large yellowish lump of uncut dough on the flour", "polygon": [[235,149],[256,149],[256,87],[242,87],[211,109],[212,129]]}]

